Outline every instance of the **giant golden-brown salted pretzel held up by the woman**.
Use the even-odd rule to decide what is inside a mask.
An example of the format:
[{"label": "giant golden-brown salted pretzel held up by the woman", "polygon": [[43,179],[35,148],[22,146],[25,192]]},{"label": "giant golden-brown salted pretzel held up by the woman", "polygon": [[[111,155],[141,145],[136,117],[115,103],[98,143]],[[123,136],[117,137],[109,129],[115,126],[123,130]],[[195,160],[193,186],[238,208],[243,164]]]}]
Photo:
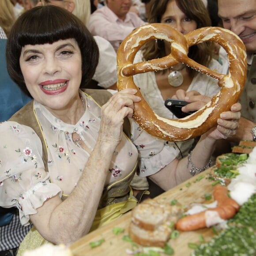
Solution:
[{"label": "giant golden-brown salted pretzel held up by the woman", "polygon": [[[147,41],[164,39],[170,42],[171,53],[160,59],[133,64],[137,51]],[[226,50],[229,74],[223,75],[188,58],[188,48],[204,41],[215,41]],[[159,117],[147,104],[132,75],[170,68],[179,62],[185,63],[208,76],[218,79],[221,87],[211,102],[188,117],[166,119]],[[133,119],[149,134],[169,141],[192,139],[216,125],[219,114],[230,110],[237,102],[246,81],[247,57],[245,46],[230,30],[220,27],[204,27],[182,35],[169,25],[153,23],[140,26],[121,43],[117,51],[117,89],[135,88],[142,100],[135,103]]]}]

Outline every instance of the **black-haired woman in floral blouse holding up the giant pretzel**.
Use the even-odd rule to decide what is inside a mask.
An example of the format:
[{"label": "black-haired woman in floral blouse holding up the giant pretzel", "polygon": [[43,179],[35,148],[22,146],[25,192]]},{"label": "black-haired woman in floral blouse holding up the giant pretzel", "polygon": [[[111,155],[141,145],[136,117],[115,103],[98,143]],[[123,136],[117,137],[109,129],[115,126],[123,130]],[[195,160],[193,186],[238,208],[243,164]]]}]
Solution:
[{"label": "black-haired woman in floral blouse holding up the giant pretzel", "polygon": [[[141,100],[136,90],[80,90],[98,48],[68,11],[49,5],[23,13],[6,56],[12,79],[33,97],[0,124],[0,206],[17,207],[22,225],[34,224],[18,255],[48,242],[69,244],[131,210],[136,170],[165,190],[191,177],[191,162],[131,119]],[[209,165],[215,141],[235,133],[240,109],[233,105],[201,136],[190,161]]]}]

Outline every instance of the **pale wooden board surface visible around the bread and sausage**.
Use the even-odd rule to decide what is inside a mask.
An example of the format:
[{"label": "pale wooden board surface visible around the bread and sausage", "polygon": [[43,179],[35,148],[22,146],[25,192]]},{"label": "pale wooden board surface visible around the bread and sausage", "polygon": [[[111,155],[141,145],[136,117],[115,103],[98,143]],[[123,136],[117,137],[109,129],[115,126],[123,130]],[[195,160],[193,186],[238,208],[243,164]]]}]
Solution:
[{"label": "pale wooden board surface visible around the bread and sausage", "polygon": [[[211,173],[215,167],[207,169],[205,172],[190,178],[182,184],[179,184],[175,188],[164,192],[160,196],[157,196],[154,200],[177,200],[179,203],[188,205],[189,203],[196,203],[202,201],[205,193],[212,193],[214,186],[212,181],[207,179],[207,173]],[[199,177],[203,177],[200,181]],[[124,235],[128,234],[128,226],[131,222],[131,212],[128,212],[118,218],[117,220],[103,226],[93,232],[82,237],[70,246],[74,256],[125,256],[128,255],[126,250],[132,249],[132,243],[123,241]],[[113,228],[124,228],[124,233],[114,234]],[[174,256],[186,256],[190,255],[192,249],[188,247],[188,243],[199,243],[200,235],[203,235],[205,241],[210,241],[214,236],[211,228],[205,228],[196,231],[180,232],[180,235],[176,239],[169,240],[168,244],[174,250]],[[98,247],[91,248],[90,242],[99,241],[105,239],[105,241]]]}]

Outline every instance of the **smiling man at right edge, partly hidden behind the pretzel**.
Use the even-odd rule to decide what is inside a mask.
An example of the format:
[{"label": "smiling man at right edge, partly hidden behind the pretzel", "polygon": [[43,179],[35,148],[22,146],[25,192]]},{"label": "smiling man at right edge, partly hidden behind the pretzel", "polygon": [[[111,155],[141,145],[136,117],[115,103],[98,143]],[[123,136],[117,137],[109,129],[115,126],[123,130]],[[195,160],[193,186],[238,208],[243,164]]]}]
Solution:
[{"label": "smiling man at right edge, partly hidden behind the pretzel", "polygon": [[239,129],[234,139],[256,140],[256,0],[218,0],[223,27],[237,34],[247,53],[247,81],[242,92]]}]

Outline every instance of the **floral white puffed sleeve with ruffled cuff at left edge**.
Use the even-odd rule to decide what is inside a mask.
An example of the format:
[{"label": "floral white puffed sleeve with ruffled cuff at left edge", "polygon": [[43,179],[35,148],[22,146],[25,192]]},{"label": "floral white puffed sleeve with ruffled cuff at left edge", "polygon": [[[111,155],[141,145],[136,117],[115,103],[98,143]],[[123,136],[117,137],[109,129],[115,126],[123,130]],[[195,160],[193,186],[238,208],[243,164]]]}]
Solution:
[{"label": "floral white puffed sleeve with ruffled cuff at left edge", "polygon": [[21,223],[61,189],[49,181],[42,160],[42,145],[30,127],[16,122],[0,123],[0,206],[17,207]]}]

